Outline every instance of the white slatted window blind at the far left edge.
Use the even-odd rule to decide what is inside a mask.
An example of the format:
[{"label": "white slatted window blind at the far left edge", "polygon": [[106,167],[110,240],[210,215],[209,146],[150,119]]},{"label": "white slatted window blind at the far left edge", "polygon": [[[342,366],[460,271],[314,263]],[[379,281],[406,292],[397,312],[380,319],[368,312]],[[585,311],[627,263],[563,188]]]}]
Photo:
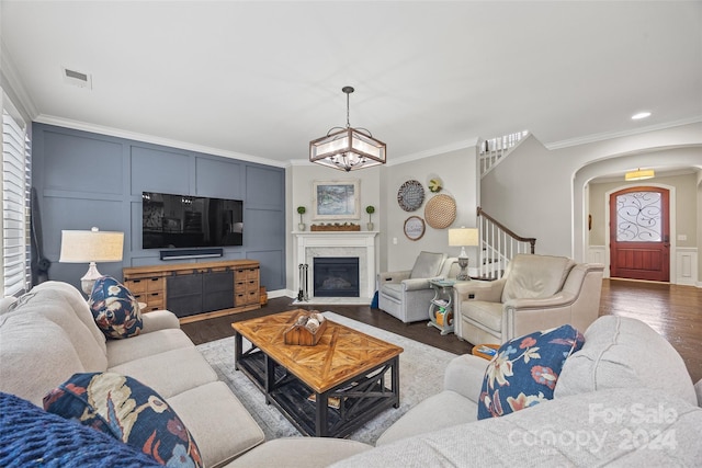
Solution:
[{"label": "white slatted window blind at the far left edge", "polygon": [[2,111],[2,275],[3,296],[31,282],[31,146],[25,129]]}]

